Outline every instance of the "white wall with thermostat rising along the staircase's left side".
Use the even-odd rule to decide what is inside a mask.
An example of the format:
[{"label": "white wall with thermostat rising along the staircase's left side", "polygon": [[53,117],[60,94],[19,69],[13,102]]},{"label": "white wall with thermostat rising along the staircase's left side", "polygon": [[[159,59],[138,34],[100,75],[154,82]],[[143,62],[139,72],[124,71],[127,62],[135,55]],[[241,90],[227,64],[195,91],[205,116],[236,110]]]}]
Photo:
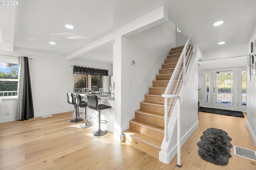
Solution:
[{"label": "white wall with thermostat rising along the staircase's left side", "polygon": [[[122,127],[129,129],[129,120],[134,119],[134,111],[140,109],[144,94],[152,87],[158,69],[164,63],[171,47],[176,46],[175,26],[168,22],[150,28],[128,38],[122,38]],[[136,61],[130,64],[130,59]],[[128,79],[131,87],[128,87]]]}]

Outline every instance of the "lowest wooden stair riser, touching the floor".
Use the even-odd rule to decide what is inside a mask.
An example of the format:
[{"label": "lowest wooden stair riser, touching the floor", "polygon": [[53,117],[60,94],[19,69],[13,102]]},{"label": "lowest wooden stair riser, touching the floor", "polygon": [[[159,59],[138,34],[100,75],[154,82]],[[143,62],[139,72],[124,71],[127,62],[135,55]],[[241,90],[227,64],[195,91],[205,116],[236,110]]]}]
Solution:
[{"label": "lowest wooden stair riser, touching the floor", "polygon": [[153,146],[150,146],[140,140],[137,140],[135,138],[132,138],[129,135],[124,135],[124,142],[126,142],[127,144],[130,144],[132,146],[134,146],[135,148],[138,148],[139,150],[142,150],[148,154],[150,154],[151,156],[154,156],[155,158],[159,159],[159,149],[155,148]]}]

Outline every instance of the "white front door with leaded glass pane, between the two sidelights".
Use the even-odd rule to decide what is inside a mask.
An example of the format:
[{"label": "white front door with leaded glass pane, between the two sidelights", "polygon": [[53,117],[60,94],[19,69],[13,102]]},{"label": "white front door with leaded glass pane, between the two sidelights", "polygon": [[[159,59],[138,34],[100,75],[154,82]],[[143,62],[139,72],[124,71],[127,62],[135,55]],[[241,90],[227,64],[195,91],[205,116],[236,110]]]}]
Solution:
[{"label": "white front door with leaded glass pane, between the two sidelights", "polygon": [[215,69],[212,78],[212,107],[238,110],[237,69]]}]

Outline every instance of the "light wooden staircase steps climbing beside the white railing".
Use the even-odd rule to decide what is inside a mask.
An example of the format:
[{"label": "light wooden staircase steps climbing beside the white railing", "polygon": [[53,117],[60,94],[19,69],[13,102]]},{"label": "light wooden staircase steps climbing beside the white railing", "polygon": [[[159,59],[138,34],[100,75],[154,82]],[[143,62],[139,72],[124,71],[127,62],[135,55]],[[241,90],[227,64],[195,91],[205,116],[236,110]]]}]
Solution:
[{"label": "light wooden staircase steps climbing beside the white railing", "polygon": [[[140,110],[135,111],[135,119],[130,120],[130,129],[124,131],[124,141],[155,158],[164,138],[164,94],[174,68],[184,46],[172,48],[167,59],[159,69],[156,80],[145,94],[145,101],[140,102]],[[178,82],[175,82],[178,83]]]}]

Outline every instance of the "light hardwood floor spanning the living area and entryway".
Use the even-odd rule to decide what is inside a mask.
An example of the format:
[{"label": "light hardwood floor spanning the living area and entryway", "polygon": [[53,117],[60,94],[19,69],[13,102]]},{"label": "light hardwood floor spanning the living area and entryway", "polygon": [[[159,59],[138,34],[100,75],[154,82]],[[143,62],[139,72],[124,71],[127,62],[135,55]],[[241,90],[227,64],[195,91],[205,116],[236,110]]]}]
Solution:
[{"label": "light hardwood floor spanning the living area and entryway", "polygon": [[199,126],[182,146],[182,168],[176,165],[176,156],[170,164],[142,152],[124,142],[113,140],[113,134],[93,136],[90,128],[78,128],[80,123],[70,123],[74,113],[52,117],[36,117],[28,121],[0,123],[0,169],[256,169],[256,162],[236,156],[227,166],[206,162],[198,155],[197,142],[207,128],[220,128],[228,132],[232,145],[256,150],[246,127],[245,118],[199,112]]}]

